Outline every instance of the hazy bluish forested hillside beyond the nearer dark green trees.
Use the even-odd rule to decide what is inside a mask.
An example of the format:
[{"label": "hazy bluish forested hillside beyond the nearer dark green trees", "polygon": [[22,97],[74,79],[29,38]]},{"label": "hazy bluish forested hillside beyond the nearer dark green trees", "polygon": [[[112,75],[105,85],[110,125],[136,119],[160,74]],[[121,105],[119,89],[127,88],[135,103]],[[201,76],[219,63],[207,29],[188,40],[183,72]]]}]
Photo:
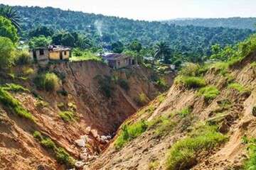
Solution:
[{"label": "hazy bluish forested hillside beyond the nearer dark green trees", "polygon": [[210,46],[233,45],[252,34],[252,30],[230,28],[205,28],[195,26],[175,26],[160,22],[134,21],[127,18],[95,15],[75,11],[63,11],[58,8],[21,7],[17,11],[23,18],[23,38],[29,30],[37,26],[48,26],[53,30],[80,31],[94,42],[107,47],[112,42],[128,44],[139,40],[142,45],[153,46],[156,42],[166,41],[172,50],[183,55],[206,55]]}]

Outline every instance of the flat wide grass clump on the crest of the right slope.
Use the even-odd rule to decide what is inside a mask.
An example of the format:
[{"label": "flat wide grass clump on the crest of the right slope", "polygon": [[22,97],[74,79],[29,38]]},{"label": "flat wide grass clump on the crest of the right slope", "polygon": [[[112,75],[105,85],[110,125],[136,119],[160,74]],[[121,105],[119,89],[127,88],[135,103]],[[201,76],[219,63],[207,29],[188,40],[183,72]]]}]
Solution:
[{"label": "flat wide grass clump on the crest of the right slope", "polygon": [[200,88],[206,86],[206,81],[202,77],[184,77],[178,76],[175,79],[176,84],[182,84],[187,88]]}]

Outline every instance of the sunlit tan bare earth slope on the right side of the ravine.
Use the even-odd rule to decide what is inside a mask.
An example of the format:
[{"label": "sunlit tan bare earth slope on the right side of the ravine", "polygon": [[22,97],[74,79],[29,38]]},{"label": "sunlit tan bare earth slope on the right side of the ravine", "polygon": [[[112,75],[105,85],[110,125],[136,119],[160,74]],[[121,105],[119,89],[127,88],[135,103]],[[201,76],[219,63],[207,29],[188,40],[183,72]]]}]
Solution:
[{"label": "sunlit tan bare earth slope on the right side of the ravine", "polygon": [[[256,52],[228,69],[225,75],[218,68],[208,69],[204,76],[206,83],[216,86],[220,91],[212,101],[207,102],[203,96],[198,96],[198,89],[174,84],[164,100],[163,96],[156,98],[124,122],[125,125],[132,125],[145,120],[150,125],[152,120],[166,116],[166,125],[169,125],[168,121],[173,124],[166,128],[161,123],[153,128],[149,126],[142,135],[127,142],[122,149],[116,149],[113,140],[110,147],[84,169],[167,169],[169,149],[185,139],[189,132],[193,132],[198,123],[218,125],[219,132],[227,140],[212,149],[198,149],[196,157],[186,167],[180,164],[181,169],[242,169],[247,157],[247,146],[242,143],[242,137],[256,137],[256,119],[252,115],[252,108],[256,105],[256,69],[251,64],[255,60]],[[230,77],[246,90],[238,91],[228,87]],[[184,108],[191,108],[191,111],[182,115]],[[157,132],[159,127],[161,132],[165,132],[164,135]]]}]

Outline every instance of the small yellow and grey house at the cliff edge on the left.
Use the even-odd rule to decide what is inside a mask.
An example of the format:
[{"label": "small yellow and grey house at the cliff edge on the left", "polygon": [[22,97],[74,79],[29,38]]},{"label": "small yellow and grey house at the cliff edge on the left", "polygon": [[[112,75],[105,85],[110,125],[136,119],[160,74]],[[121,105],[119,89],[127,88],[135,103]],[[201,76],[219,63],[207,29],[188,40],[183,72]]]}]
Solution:
[{"label": "small yellow and grey house at the cliff edge on the left", "polygon": [[71,49],[60,45],[50,45],[49,47],[37,47],[32,50],[31,57],[37,62],[46,62],[49,60],[69,60]]}]

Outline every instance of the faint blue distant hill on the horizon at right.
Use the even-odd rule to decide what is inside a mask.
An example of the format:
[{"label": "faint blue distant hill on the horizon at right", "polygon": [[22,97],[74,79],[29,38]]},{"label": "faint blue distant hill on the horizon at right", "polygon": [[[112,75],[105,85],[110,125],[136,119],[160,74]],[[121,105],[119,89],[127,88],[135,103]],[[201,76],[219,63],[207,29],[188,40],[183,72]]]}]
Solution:
[{"label": "faint blue distant hill on the horizon at right", "polygon": [[176,24],[178,26],[204,26],[204,27],[224,27],[239,29],[256,29],[256,18],[180,18],[163,21],[163,23]]}]

